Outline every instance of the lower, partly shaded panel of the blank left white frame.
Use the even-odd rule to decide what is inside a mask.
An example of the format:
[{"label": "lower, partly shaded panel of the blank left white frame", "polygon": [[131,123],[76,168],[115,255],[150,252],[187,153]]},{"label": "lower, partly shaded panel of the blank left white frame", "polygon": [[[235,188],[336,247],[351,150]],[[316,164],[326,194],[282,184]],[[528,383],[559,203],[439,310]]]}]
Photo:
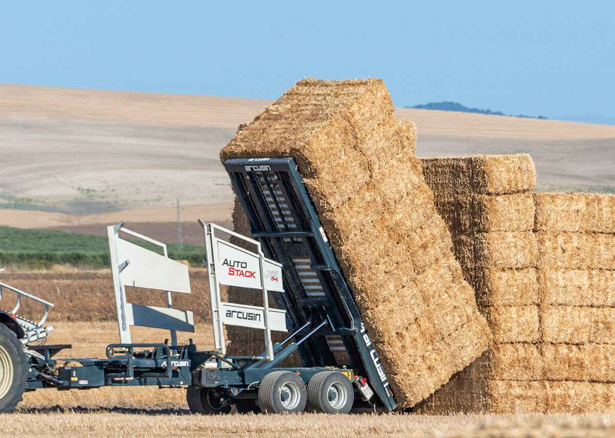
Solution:
[{"label": "lower, partly shaded panel of the blank left white frame", "polygon": [[186,310],[127,303],[126,320],[130,325],[194,333],[194,317]]}]

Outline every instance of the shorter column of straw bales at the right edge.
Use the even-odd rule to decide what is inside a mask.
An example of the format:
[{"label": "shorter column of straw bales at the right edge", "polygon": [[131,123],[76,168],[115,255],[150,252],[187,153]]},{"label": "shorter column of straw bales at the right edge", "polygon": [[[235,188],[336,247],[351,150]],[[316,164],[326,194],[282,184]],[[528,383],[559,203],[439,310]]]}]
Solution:
[{"label": "shorter column of straw bales at the right edge", "polygon": [[534,202],[547,412],[615,411],[615,196]]}]

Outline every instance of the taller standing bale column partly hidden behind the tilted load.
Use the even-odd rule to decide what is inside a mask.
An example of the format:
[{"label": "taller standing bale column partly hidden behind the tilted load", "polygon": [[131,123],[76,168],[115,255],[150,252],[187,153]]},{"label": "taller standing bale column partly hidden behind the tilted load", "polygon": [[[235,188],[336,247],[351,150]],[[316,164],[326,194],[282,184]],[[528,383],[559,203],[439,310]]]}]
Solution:
[{"label": "taller standing bale column partly hidden behind the tilted load", "polygon": [[493,346],[421,404],[426,413],[544,409],[538,343],[538,242],[527,154],[423,159],[456,258],[493,331]]}]

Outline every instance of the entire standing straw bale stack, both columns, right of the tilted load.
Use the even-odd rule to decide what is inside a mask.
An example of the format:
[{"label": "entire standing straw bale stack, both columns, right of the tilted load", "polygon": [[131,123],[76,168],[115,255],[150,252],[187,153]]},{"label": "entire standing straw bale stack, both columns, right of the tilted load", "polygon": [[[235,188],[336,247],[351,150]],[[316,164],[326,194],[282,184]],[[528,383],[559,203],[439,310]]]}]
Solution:
[{"label": "entire standing straw bale stack, both columns, right of the tilted load", "polygon": [[419,411],[615,410],[615,197],[531,194],[525,155],[423,164],[494,344]]}]

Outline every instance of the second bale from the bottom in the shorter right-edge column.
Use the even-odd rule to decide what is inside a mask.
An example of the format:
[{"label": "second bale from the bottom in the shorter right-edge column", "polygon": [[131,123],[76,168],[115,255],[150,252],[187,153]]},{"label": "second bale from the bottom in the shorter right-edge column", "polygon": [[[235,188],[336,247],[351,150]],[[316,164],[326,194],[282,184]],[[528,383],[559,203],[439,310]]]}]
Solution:
[{"label": "second bale from the bottom in the shorter right-edge column", "polygon": [[614,383],[615,345],[542,344],[547,380]]}]

